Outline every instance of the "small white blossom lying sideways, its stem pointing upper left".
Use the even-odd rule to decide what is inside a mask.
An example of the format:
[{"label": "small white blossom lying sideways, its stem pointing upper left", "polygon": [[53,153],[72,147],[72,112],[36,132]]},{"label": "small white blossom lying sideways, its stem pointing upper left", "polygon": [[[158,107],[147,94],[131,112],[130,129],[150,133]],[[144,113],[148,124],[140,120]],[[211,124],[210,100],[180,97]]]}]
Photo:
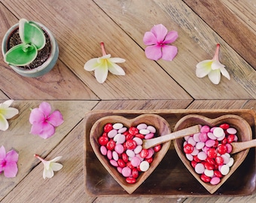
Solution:
[{"label": "small white blossom lying sideways, its stem pointing upper left", "polygon": [[46,161],[42,159],[40,156],[37,154],[34,155],[36,158],[38,158],[43,164],[44,164],[44,172],[43,172],[43,177],[44,179],[46,177],[51,178],[54,175],[53,171],[59,171],[62,168],[62,164],[57,163],[59,159],[62,158],[62,156],[57,156],[54,159],[51,159],[50,161]]}]

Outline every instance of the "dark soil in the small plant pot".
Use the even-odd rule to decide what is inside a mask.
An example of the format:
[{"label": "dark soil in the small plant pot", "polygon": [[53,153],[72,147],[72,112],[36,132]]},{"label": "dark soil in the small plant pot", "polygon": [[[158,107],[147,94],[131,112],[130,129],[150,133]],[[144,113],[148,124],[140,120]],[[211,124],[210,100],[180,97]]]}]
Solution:
[{"label": "dark soil in the small plant pot", "polygon": [[[29,65],[25,66],[17,66],[19,68],[23,69],[32,69],[32,68],[37,68],[38,66],[42,65],[50,56],[50,50],[51,50],[51,45],[50,45],[50,38],[47,35],[46,32],[44,32],[44,36],[46,38],[46,44],[43,49],[38,50],[38,56],[35,58],[35,60]],[[22,41],[20,40],[20,35],[19,35],[19,29],[16,29],[10,36],[7,44],[7,50],[10,50],[11,47],[14,47],[17,44],[21,44]]]}]

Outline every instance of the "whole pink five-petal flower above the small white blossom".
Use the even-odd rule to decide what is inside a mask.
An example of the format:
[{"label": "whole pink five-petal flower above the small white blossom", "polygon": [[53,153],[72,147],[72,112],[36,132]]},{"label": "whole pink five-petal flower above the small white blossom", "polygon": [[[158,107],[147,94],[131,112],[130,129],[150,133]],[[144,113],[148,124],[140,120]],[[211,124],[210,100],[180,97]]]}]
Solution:
[{"label": "whole pink five-petal flower above the small white blossom", "polygon": [[50,111],[51,107],[47,102],[42,102],[39,108],[32,109],[29,117],[29,122],[32,124],[30,133],[44,139],[53,136],[55,127],[63,123],[63,118],[59,111],[53,111],[52,114]]}]

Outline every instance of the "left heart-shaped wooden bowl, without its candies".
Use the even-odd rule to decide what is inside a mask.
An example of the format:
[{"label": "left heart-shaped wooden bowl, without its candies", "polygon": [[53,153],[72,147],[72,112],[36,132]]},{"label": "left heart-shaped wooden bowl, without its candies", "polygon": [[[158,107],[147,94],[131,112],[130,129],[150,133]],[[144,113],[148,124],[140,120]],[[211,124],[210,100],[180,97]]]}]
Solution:
[{"label": "left heart-shaped wooden bowl, without its candies", "polygon": [[93,147],[94,153],[96,154],[102,165],[106,168],[108,173],[111,174],[112,177],[114,177],[114,180],[116,180],[117,183],[119,183],[120,186],[122,186],[123,189],[126,190],[126,192],[131,194],[147,179],[147,177],[161,162],[163,156],[165,156],[166,152],[169,150],[171,142],[168,141],[164,143],[161,150],[158,153],[155,153],[154,160],[153,162],[151,162],[150,168],[148,169],[148,171],[145,171],[139,175],[136,183],[126,183],[125,177],[123,177],[122,174],[120,174],[115,167],[110,165],[107,157],[102,156],[102,153],[100,153],[98,138],[102,135],[103,126],[105,126],[106,123],[123,123],[123,126],[126,126],[128,128],[130,126],[138,126],[140,123],[146,123],[147,125],[154,126],[157,129],[157,136],[167,135],[171,132],[169,129],[169,123],[167,123],[166,120],[163,119],[163,117],[160,117],[156,114],[142,114],[139,117],[131,120],[120,116],[102,117],[93,124],[92,129],[90,130],[90,144]]}]

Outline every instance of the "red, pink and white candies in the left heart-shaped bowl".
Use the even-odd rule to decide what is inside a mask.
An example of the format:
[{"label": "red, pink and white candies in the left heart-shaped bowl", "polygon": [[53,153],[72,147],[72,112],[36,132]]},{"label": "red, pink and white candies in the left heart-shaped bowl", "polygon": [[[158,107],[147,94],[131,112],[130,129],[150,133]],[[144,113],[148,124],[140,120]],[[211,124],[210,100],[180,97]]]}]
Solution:
[{"label": "red, pink and white candies in the left heart-shaped bowl", "polygon": [[100,151],[107,156],[111,165],[126,177],[127,183],[136,183],[139,172],[148,171],[154,153],[160,151],[161,145],[142,149],[142,140],[154,138],[156,129],[140,123],[129,129],[123,123],[107,123],[104,132],[98,138]]}]

